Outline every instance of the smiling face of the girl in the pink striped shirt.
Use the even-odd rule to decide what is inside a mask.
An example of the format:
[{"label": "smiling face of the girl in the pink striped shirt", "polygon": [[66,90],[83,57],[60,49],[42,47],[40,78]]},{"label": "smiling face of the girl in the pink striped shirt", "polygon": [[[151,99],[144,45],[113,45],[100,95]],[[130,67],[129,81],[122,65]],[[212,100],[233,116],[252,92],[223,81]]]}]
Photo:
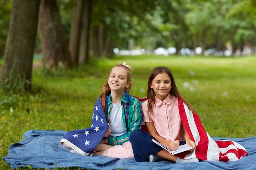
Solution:
[{"label": "smiling face of the girl in the pink striped shirt", "polygon": [[150,88],[155,92],[157,99],[164,100],[171,91],[171,79],[166,73],[160,73],[155,76],[150,84]]}]

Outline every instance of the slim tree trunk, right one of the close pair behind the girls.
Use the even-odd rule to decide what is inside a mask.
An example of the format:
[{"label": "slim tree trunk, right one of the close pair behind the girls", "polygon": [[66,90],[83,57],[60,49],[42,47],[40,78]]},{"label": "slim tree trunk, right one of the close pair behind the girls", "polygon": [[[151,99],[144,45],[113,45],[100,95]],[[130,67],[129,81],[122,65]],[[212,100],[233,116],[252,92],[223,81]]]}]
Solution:
[{"label": "slim tree trunk, right one of the close pair behind the girls", "polygon": [[92,0],[85,0],[83,7],[83,20],[81,26],[81,38],[79,48],[79,63],[88,64],[90,42],[90,20],[92,12]]}]

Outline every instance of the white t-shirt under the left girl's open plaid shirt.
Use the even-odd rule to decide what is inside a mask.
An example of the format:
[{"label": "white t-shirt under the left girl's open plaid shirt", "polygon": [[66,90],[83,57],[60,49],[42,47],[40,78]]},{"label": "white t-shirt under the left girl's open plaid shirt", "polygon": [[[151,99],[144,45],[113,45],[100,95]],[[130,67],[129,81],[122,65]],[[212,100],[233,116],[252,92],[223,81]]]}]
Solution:
[{"label": "white t-shirt under the left girl's open plaid shirt", "polygon": [[112,104],[112,108],[108,116],[109,124],[111,127],[111,136],[121,136],[127,133],[122,119],[122,108],[123,106],[121,105],[121,102],[118,104]]}]

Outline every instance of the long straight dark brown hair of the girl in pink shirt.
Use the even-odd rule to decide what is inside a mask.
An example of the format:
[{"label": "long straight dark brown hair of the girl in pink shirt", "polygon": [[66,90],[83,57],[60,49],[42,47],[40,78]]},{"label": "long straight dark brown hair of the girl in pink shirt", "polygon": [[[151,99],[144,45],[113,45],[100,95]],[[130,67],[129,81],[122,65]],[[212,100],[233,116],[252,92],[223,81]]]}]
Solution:
[{"label": "long straight dark brown hair of the girl in pink shirt", "polygon": [[173,73],[171,72],[171,70],[167,67],[159,66],[159,67],[154,68],[151,71],[149,79],[148,79],[147,98],[148,98],[148,115],[149,115],[149,117],[150,117],[151,114],[154,114],[152,105],[155,104],[155,92],[152,88],[150,88],[150,85],[151,85],[153,79],[161,73],[166,73],[171,79],[172,88],[171,88],[171,91],[169,93],[173,96],[181,98],[182,101],[188,106],[188,108],[193,113],[197,114],[196,111],[195,111],[195,108],[193,108],[193,106],[184,97],[182,97],[182,95],[180,94],[180,92],[179,92],[179,90],[178,90],[178,88],[175,84],[175,81],[174,81],[174,78],[173,78]]}]

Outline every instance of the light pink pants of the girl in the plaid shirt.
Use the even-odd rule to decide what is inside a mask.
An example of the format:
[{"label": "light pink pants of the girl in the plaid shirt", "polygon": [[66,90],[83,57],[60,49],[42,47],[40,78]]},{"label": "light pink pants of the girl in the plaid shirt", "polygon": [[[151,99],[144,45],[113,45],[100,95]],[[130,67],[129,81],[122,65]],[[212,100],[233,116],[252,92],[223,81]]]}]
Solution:
[{"label": "light pink pants of the girl in the plaid shirt", "polygon": [[132,144],[130,141],[125,142],[120,147],[113,147],[108,149],[108,157],[115,158],[134,158],[132,151]]}]

